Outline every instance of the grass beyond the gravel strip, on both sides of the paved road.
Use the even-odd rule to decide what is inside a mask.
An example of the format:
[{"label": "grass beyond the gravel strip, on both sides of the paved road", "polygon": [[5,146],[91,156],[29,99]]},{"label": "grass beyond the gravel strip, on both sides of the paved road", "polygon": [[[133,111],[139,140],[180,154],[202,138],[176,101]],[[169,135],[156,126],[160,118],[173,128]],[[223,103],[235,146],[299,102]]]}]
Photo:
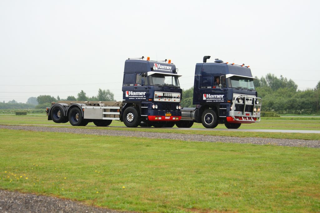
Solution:
[{"label": "grass beyond the gravel strip, on both sides of the paved road", "polygon": [[[0,125],[55,125],[61,128],[85,128],[85,129],[112,129],[112,130],[126,130],[126,131],[143,131],[143,132],[162,132],[162,133],[183,133],[183,134],[203,134],[203,135],[217,135],[217,136],[236,136],[236,137],[264,137],[264,138],[286,138],[286,139],[304,139],[304,140],[320,140],[320,134],[315,133],[263,133],[263,132],[232,132],[232,131],[201,131],[192,130],[194,128],[204,128],[202,124],[195,123],[192,131],[183,131],[179,128],[123,128],[123,122],[113,121],[110,127],[89,126],[74,127],[68,123],[61,126],[53,121],[48,121],[45,115],[0,115]],[[120,126],[120,128],[115,127]],[[219,124],[217,129],[226,129],[223,124]],[[262,118],[261,122],[255,124],[243,124],[239,129],[292,129],[292,130],[320,130],[320,118]]]}]

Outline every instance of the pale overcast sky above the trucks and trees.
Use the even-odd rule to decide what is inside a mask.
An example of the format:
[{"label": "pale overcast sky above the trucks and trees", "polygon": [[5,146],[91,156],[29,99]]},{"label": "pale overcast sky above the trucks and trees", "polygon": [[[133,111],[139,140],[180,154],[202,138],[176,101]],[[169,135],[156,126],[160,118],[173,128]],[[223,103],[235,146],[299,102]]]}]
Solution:
[{"label": "pale overcast sky above the trucks and trees", "polygon": [[249,65],[253,76],[320,80],[320,1],[0,0],[0,101],[109,89],[122,100],[128,57],[171,59],[180,86],[196,63]]}]

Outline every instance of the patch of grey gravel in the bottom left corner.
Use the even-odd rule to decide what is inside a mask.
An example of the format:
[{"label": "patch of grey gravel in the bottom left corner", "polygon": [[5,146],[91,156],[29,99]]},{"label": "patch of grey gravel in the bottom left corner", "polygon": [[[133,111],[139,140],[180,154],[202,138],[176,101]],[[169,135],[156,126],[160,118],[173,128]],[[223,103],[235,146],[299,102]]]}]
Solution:
[{"label": "patch of grey gravel in the bottom left corner", "polygon": [[[77,201],[47,197],[43,195],[24,194],[0,190],[0,212],[5,213],[37,213],[37,212],[92,212],[92,213],[125,213],[84,205]],[[129,213],[129,212],[127,212]],[[132,212],[130,212],[132,213]]]}]

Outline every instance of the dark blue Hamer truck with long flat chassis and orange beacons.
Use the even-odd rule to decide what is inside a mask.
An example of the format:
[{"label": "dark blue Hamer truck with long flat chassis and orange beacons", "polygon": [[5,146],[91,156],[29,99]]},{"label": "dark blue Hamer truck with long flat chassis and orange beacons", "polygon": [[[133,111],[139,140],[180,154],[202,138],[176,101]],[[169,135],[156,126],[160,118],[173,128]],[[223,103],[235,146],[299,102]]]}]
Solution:
[{"label": "dark blue Hamer truck with long flat chassis and orange beacons", "polygon": [[58,101],[46,109],[48,120],[73,126],[108,126],[112,120],[127,127],[172,127],[181,119],[181,88],[178,69],[171,60],[144,57],[124,63],[122,102]]}]

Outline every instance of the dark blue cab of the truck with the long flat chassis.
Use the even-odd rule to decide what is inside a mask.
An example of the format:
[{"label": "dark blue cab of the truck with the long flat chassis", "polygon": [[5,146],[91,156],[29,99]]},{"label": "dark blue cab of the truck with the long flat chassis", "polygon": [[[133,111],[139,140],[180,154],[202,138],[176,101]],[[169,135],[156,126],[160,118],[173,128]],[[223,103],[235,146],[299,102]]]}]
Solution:
[{"label": "dark blue cab of the truck with the long flat chassis", "polygon": [[122,114],[126,126],[172,127],[181,119],[182,90],[177,72],[170,60],[125,61]]}]

